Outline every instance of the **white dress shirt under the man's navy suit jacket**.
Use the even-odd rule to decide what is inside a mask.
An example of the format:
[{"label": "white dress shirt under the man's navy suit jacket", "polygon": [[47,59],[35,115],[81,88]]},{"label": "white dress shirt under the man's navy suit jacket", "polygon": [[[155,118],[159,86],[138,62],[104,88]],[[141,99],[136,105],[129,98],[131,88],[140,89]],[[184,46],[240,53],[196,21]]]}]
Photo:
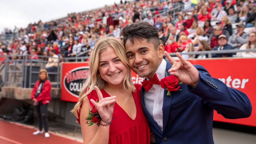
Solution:
[{"label": "white dress shirt under the man's navy suit jacket", "polygon": [[[163,59],[160,66],[156,70],[156,75],[161,81],[165,77],[166,61]],[[164,102],[164,89],[161,85],[153,84],[148,92],[144,93],[144,104],[149,114],[156,121],[158,126],[163,131],[163,102]]]}]

